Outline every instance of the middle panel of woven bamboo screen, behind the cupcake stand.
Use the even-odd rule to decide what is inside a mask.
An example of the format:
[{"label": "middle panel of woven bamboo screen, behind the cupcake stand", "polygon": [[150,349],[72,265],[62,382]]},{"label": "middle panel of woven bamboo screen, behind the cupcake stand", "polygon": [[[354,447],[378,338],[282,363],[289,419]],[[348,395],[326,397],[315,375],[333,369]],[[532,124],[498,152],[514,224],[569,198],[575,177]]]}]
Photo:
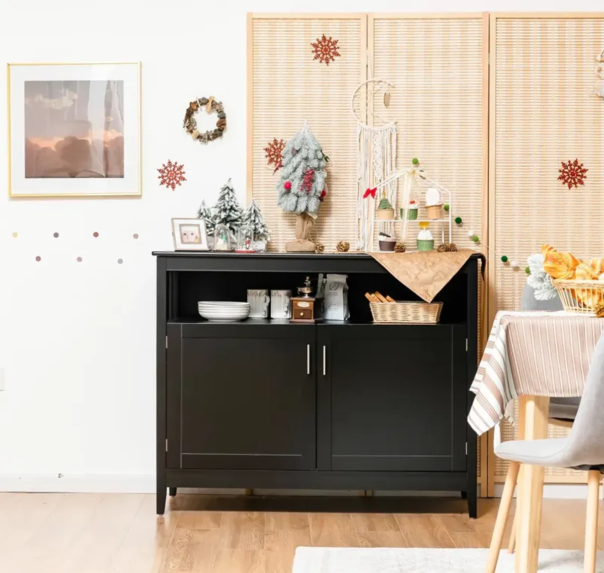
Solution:
[{"label": "middle panel of woven bamboo screen, behind the cupcake stand", "polygon": [[[381,105],[381,94],[373,103],[374,109],[381,106],[381,120],[397,122],[397,166],[408,167],[417,157],[431,178],[451,190],[453,214],[466,225],[454,225],[453,241],[460,248],[476,247],[469,230],[487,234],[488,33],[488,18],[481,14],[374,14],[368,21],[369,77],[373,72],[394,85],[388,108]],[[482,340],[478,346],[481,355]],[[485,450],[483,438],[478,441],[483,494]]]}]

